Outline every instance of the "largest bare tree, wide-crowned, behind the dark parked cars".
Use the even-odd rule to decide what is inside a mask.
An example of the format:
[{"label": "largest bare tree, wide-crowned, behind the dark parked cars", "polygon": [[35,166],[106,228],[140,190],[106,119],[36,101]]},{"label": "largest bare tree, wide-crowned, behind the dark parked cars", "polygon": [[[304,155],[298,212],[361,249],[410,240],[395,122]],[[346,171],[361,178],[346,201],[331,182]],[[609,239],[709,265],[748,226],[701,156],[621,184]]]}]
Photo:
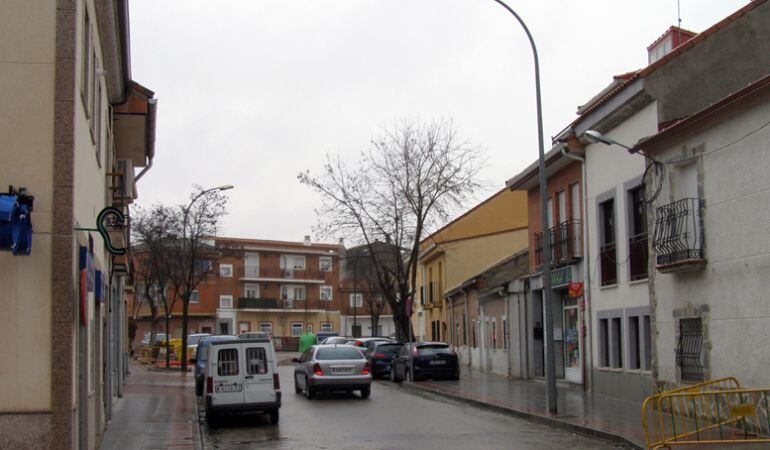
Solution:
[{"label": "largest bare tree, wide-crowned, behind the dark parked cars", "polygon": [[[420,241],[480,186],[475,178],[482,165],[478,149],[458,141],[451,121],[403,122],[384,130],[357,164],[327,155],[320,175],[298,175],[321,195],[319,234],[342,233],[369,247],[400,339],[410,337],[407,303]],[[376,242],[388,250],[375,251]]]}]

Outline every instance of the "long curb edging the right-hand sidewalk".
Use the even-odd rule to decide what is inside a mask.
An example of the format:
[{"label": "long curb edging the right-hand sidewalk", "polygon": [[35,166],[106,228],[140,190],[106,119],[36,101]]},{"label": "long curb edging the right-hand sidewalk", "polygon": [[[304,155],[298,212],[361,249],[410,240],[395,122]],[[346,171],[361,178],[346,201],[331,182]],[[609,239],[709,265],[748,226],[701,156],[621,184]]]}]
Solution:
[{"label": "long curb edging the right-hand sidewalk", "polygon": [[436,395],[440,395],[442,397],[450,398],[452,400],[457,400],[457,401],[462,402],[462,403],[467,403],[469,405],[474,405],[474,406],[478,406],[478,407],[481,407],[481,408],[485,408],[485,409],[489,409],[489,410],[492,410],[492,411],[496,411],[496,412],[499,412],[499,413],[508,414],[508,415],[511,415],[511,416],[516,416],[516,417],[519,417],[519,418],[522,418],[522,419],[530,420],[532,422],[542,423],[542,424],[545,424],[545,425],[551,425],[551,426],[562,428],[562,429],[565,429],[565,430],[568,430],[568,431],[572,431],[572,432],[576,432],[576,433],[580,433],[580,434],[596,437],[596,438],[603,439],[605,441],[609,441],[609,442],[612,442],[612,443],[615,443],[615,444],[623,445],[626,448],[633,448],[633,449],[639,449],[639,450],[643,449],[643,447],[639,446],[639,444],[636,444],[636,443],[628,440],[626,437],[624,437],[622,435],[619,435],[619,434],[611,433],[609,431],[599,430],[599,429],[596,429],[596,428],[591,428],[591,427],[588,427],[588,426],[585,426],[585,425],[576,424],[576,423],[565,422],[565,421],[559,420],[558,418],[555,418],[555,417],[543,416],[543,415],[540,415],[540,414],[535,414],[535,413],[531,413],[531,412],[527,412],[527,411],[521,411],[521,410],[518,410],[518,409],[508,408],[508,407],[500,406],[500,405],[493,405],[491,403],[485,403],[485,402],[483,402],[481,400],[476,400],[476,399],[473,399],[473,398],[468,398],[468,397],[463,397],[463,396],[460,396],[460,395],[450,394],[448,392],[444,392],[444,391],[440,391],[440,390],[436,390],[436,389],[431,389],[429,387],[418,386],[418,385],[416,385],[414,383],[410,383],[410,382],[407,382],[407,381],[402,382],[401,386],[404,389],[411,390],[411,391],[414,391],[414,392],[428,392],[428,393],[431,393],[431,394],[436,394]]}]

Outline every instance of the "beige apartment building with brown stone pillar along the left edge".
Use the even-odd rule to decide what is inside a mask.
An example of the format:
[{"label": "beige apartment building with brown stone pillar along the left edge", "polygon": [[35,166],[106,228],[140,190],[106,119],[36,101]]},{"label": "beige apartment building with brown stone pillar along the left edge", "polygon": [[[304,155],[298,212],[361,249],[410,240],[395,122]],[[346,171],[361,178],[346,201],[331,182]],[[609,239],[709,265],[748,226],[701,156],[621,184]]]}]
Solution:
[{"label": "beige apartment building with brown stone pillar along the left edge", "polygon": [[125,1],[2,6],[0,203],[32,226],[0,252],[2,448],[96,448],[122,392],[122,253],[156,115],[128,17]]}]

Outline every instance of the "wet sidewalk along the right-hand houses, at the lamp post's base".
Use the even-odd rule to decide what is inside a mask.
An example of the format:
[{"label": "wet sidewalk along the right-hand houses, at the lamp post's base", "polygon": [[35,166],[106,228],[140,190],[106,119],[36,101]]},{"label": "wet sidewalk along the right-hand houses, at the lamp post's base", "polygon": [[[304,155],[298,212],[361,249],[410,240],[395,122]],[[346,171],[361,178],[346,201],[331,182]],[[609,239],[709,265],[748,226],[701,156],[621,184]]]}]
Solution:
[{"label": "wet sidewalk along the right-hand houses, at the lamp post's base", "polygon": [[619,444],[644,448],[641,405],[637,403],[558,387],[559,413],[551,416],[546,412],[545,383],[510,380],[465,366],[458,381],[418,381],[403,385]]}]

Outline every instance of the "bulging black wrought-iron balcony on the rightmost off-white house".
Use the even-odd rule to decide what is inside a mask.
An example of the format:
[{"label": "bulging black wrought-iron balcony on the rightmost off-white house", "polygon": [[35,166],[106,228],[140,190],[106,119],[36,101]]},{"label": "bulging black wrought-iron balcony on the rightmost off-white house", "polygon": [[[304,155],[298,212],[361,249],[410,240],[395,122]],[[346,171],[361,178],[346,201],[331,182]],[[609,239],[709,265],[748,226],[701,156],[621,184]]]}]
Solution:
[{"label": "bulging black wrought-iron balcony on the rightmost off-white house", "polygon": [[685,198],[655,210],[652,248],[662,273],[701,268],[704,253],[703,211],[700,198]]}]

